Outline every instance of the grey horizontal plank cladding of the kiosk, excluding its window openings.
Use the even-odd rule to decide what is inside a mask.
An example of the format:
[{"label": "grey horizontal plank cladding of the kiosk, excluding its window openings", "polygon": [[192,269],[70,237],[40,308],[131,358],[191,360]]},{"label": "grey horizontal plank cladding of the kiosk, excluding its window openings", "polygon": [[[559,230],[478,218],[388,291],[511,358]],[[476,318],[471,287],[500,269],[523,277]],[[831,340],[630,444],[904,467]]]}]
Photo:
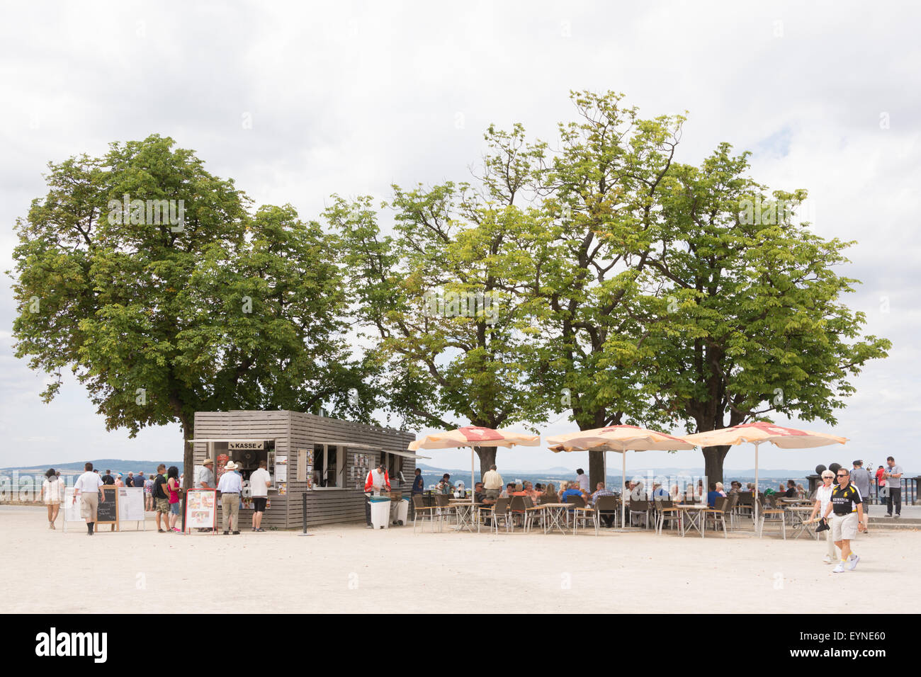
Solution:
[{"label": "grey horizontal plank cladding of the kiosk, excluding its window openings", "polygon": [[[285,496],[269,493],[269,508],[262,517],[263,528],[293,529],[302,524],[302,498],[307,494],[308,526],[334,522],[364,521],[365,496],[360,489],[328,489],[307,491],[307,483],[296,482],[297,449],[313,449],[314,444],[351,442],[381,447],[386,450],[405,450],[415,439],[413,433],[368,426],[366,424],[340,421],[325,416],[287,411],[235,411],[196,412],[194,438],[240,438],[274,439],[275,456],[288,457],[288,483]],[[196,465],[204,461],[207,444],[196,441],[194,460]],[[371,454],[375,461],[379,452],[368,449],[345,449],[347,477],[352,463],[352,454]],[[403,496],[409,496],[413,483],[415,461],[402,459],[402,471],[406,486]],[[391,484],[394,484],[391,478]],[[218,509],[218,527],[221,526],[221,510]],[[250,529],[252,511],[241,509],[239,522],[244,530]]]}]

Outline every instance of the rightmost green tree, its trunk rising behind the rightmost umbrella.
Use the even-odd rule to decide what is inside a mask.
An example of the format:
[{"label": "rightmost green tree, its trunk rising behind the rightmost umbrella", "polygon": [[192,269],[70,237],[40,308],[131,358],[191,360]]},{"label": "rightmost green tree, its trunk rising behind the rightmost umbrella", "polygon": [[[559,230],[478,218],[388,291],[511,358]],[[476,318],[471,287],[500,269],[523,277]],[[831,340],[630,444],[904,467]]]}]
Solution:
[{"label": "rightmost green tree, its trunk rising behind the rightmost umbrella", "polygon": [[[658,368],[645,389],[694,432],[772,413],[834,425],[850,378],[891,344],[862,335],[865,315],[841,301],[858,281],[834,268],[853,243],[815,235],[796,217],[805,191],[767,193],[748,169],[723,144],[669,172],[670,236],[647,258],[666,287],[647,324]],[[728,450],[704,449],[710,480]]]}]

